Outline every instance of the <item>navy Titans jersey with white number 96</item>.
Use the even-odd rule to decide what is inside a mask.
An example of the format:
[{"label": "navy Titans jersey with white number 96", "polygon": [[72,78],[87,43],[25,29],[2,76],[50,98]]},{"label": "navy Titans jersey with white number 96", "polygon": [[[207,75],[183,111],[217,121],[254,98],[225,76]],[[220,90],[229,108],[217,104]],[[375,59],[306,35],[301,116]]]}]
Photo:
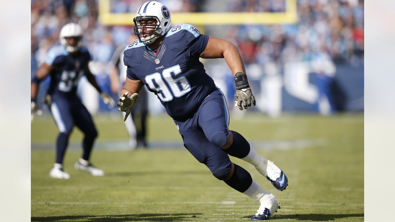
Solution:
[{"label": "navy Titans jersey with white number 96", "polygon": [[157,54],[136,40],[124,51],[127,77],[143,81],[173,119],[186,120],[216,90],[213,79],[199,61],[208,41],[209,36],[200,34],[191,24],[172,27]]}]

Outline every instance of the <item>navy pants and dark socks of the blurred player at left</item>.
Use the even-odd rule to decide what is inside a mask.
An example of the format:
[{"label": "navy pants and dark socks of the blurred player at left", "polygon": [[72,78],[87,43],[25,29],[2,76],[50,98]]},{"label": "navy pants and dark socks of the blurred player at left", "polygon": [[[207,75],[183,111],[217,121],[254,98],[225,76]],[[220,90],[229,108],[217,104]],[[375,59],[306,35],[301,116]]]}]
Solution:
[{"label": "navy pants and dark socks of the blurred player at left", "polygon": [[66,98],[64,96],[53,95],[51,114],[60,132],[56,141],[56,163],[63,163],[64,153],[66,152],[70,133],[74,125],[85,134],[82,143],[82,158],[88,160],[98,132],[90,113],[82,104],[81,100],[77,96]]}]

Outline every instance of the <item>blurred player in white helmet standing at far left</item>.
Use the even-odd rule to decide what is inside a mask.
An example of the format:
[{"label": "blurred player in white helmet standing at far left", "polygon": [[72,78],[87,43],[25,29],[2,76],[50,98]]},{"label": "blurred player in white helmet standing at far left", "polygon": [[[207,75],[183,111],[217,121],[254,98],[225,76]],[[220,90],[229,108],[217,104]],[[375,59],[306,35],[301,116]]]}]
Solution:
[{"label": "blurred player in white helmet standing at far left", "polygon": [[60,45],[53,46],[47,53],[43,64],[38,68],[31,84],[31,112],[37,109],[36,96],[40,81],[51,77],[46,103],[49,105],[53,119],[59,128],[56,140],[56,160],[49,175],[53,178],[69,179],[70,175],[64,171],[63,157],[66,152],[73,126],[77,126],[84,134],[82,157],[75,163],[75,168],[86,171],[93,176],[103,176],[102,169],[94,167],[89,162],[92,146],[98,133],[87,108],[77,97],[77,83],[85,75],[90,84],[99,92],[105,103],[110,107],[114,100],[102,92],[94,75],[88,68],[91,57],[86,47],[82,45],[82,29],[79,24],[68,23],[60,30]]}]

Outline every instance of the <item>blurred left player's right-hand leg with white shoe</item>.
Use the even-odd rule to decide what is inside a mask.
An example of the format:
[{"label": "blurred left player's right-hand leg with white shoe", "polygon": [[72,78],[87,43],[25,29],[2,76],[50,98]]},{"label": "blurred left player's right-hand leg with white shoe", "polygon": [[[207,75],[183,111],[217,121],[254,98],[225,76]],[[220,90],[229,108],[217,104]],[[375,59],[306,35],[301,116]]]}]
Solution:
[{"label": "blurred left player's right-hand leg with white shoe", "polygon": [[85,171],[93,176],[103,176],[104,171],[93,166],[90,161],[90,153],[92,152],[92,147],[94,140],[98,136],[98,132],[93,123],[92,117],[88,112],[87,108],[81,103],[81,100],[75,98],[73,100],[72,115],[75,125],[85,134],[83,139],[82,147],[83,154],[82,157],[75,163],[75,169]]}]

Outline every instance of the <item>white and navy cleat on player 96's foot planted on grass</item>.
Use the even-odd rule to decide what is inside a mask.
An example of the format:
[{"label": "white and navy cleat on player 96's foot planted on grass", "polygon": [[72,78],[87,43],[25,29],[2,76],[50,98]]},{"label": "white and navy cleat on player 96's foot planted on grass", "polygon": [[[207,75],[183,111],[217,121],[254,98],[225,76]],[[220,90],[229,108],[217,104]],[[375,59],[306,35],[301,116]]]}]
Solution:
[{"label": "white and navy cleat on player 96's foot planted on grass", "polygon": [[269,220],[270,216],[280,208],[280,202],[273,194],[263,195],[258,203],[259,209],[251,220]]}]

